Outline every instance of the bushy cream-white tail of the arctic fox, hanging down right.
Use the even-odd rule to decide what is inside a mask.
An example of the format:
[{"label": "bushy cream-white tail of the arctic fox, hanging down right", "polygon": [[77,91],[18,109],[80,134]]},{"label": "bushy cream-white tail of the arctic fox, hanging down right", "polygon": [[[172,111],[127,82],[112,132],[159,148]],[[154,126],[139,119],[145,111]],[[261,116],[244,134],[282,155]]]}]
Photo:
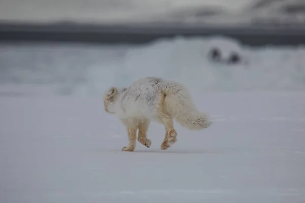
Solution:
[{"label": "bushy cream-white tail of the arctic fox, hanging down right", "polygon": [[182,126],[192,130],[200,130],[210,126],[206,114],[197,110],[189,91],[184,85],[172,82],[163,89],[165,105],[170,115]]}]

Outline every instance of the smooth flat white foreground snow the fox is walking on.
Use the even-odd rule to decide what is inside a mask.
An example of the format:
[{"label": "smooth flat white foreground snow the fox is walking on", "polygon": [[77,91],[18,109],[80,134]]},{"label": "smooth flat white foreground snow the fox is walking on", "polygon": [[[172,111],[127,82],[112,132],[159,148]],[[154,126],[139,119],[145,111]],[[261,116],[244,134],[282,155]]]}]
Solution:
[{"label": "smooth flat white foreground snow the fox is walking on", "polygon": [[1,202],[304,202],[305,94],[195,97],[214,124],[160,149],[128,143],[101,98],[0,99]]}]

